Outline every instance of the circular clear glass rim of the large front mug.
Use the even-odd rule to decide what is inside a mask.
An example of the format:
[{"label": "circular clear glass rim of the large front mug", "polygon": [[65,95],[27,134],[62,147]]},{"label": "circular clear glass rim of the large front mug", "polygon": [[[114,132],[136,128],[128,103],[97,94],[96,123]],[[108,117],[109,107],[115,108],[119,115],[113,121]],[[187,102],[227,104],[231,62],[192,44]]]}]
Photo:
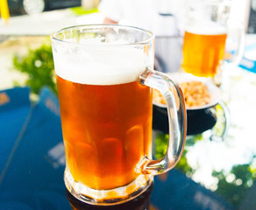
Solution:
[{"label": "circular clear glass rim of the large front mug", "polygon": [[[63,31],[71,31],[71,30],[75,30],[75,29],[100,29],[100,28],[113,28],[113,29],[127,29],[127,30],[133,30],[133,31],[141,31],[144,32],[146,34],[149,35],[149,38],[146,38],[145,40],[141,40],[138,42],[133,42],[133,43],[74,43],[74,42],[70,42],[67,40],[62,40],[60,38],[57,38],[57,35],[60,34]],[[57,41],[60,43],[65,43],[68,45],[116,45],[116,46],[124,46],[124,45],[147,45],[148,43],[152,42],[153,39],[155,38],[153,35],[152,31],[146,30],[146,29],[142,29],[136,26],[132,26],[132,25],[109,25],[109,24],[96,24],[96,25],[72,25],[72,26],[68,26],[65,28],[61,28],[59,30],[53,31],[50,35],[51,40],[53,41]]]}]

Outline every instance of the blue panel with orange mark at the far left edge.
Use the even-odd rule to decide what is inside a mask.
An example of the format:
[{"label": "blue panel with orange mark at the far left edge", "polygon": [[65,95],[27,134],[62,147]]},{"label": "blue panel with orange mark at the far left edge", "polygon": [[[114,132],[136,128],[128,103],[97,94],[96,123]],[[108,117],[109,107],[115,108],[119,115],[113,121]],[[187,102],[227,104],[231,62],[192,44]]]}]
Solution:
[{"label": "blue panel with orange mark at the far left edge", "polygon": [[29,88],[0,91],[0,179],[30,110]]}]

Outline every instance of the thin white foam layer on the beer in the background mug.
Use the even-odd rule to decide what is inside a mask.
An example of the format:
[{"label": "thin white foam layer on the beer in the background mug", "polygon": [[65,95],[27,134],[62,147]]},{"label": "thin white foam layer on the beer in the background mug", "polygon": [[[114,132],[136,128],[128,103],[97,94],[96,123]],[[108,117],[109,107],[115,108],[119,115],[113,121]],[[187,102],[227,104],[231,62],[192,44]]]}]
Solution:
[{"label": "thin white foam layer on the beer in the background mug", "polygon": [[188,25],[186,31],[201,35],[220,35],[226,34],[227,30],[224,26],[214,22],[203,22],[195,25]]}]

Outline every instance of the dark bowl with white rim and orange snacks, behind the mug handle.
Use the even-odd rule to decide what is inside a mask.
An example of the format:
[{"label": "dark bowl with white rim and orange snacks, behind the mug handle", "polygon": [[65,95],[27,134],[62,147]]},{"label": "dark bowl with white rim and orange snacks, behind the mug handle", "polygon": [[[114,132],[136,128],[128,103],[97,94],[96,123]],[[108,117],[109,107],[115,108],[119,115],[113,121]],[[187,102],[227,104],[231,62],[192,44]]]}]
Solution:
[{"label": "dark bowl with white rim and orange snacks, behind the mug handle", "polygon": [[[187,109],[187,135],[210,130],[217,123],[215,106],[221,100],[221,91],[205,78],[189,73],[170,73],[184,95]],[[168,132],[167,107],[163,95],[153,89],[153,129]]]}]

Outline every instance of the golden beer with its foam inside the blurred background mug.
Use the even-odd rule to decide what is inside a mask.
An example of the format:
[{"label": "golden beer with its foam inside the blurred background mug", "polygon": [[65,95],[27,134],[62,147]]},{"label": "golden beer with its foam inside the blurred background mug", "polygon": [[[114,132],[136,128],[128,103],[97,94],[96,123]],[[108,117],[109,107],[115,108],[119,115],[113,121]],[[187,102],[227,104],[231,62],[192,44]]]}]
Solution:
[{"label": "golden beer with its foam inside the blurred background mug", "polygon": [[196,76],[213,78],[224,58],[227,33],[224,27],[196,25],[185,31],[182,68]]}]

